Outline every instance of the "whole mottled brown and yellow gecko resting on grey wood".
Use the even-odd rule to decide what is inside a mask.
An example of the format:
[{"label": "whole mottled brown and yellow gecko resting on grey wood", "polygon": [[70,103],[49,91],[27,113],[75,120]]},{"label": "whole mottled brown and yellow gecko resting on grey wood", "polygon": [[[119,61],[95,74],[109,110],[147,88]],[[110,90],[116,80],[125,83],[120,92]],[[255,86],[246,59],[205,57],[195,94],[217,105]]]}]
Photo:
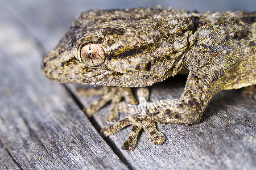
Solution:
[{"label": "whole mottled brown and yellow gecko resting on grey wood", "polygon": [[[154,145],[162,145],[165,137],[156,123],[196,124],[216,92],[256,84],[255,18],[256,12],[159,6],[89,10],[77,16],[41,67],[55,82],[102,86],[80,90],[102,95],[84,107],[89,116],[108,101],[108,120],[117,120],[117,112],[129,113],[101,129],[108,137],[131,125],[122,150],[133,150],[142,129]],[[132,87],[151,86],[182,70],[188,77],[180,99],[138,104]]]}]

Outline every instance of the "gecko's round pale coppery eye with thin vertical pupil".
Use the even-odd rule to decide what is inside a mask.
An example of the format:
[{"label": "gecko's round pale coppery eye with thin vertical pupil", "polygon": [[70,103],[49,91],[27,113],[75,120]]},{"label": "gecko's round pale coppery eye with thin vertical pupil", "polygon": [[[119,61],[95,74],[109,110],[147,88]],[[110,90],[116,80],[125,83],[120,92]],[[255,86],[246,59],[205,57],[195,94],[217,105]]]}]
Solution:
[{"label": "gecko's round pale coppery eye with thin vertical pupil", "polygon": [[104,49],[98,44],[83,46],[80,55],[81,61],[88,67],[100,67],[106,59]]}]

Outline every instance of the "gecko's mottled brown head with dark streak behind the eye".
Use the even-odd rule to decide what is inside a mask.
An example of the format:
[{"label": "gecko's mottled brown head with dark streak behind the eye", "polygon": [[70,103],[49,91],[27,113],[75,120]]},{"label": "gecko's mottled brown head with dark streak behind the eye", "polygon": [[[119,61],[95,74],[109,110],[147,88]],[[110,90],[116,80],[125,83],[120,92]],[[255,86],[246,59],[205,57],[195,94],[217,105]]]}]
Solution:
[{"label": "gecko's mottled brown head with dark streak behind the eye", "polygon": [[84,12],[44,56],[43,73],[61,83],[123,87],[164,80],[185,44],[167,40],[170,32],[160,27],[170,23],[141,10]]}]

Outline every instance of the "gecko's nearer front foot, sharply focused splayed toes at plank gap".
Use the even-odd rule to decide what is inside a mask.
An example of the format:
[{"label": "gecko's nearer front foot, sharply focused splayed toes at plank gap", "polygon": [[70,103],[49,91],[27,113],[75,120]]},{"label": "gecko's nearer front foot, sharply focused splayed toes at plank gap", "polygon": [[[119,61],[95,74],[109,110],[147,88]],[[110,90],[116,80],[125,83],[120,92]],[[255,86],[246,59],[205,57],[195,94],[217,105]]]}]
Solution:
[{"label": "gecko's nearer front foot, sharply focused splayed toes at plank gap", "polygon": [[105,128],[101,129],[101,134],[108,137],[110,134],[113,134],[129,125],[133,126],[131,128],[129,137],[121,147],[122,150],[133,150],[137,143],[138,134],[141,129],[144,129],[147,132],[151,142],[154,143],[154,145],[162,145],[164,142],[165,137],[159,130],[156,129],[155,122],[147,120],[146,118],[139,118],[138,114],[137,116],[135,114],[128,116],[123,120],[116,122],[114,125],[106,126]]}]

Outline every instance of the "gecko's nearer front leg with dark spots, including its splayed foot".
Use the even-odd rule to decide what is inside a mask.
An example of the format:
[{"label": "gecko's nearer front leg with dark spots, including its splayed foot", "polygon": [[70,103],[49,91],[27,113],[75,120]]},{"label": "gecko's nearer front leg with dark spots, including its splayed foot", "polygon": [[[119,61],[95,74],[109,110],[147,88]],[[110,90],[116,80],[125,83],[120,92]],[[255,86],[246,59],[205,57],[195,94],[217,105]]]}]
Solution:
[{"label": "gecko's nearer front leg with dark spots, including its splayed foot", "polygon": [[164,142],[164,135],[156,129],[156,122],[196,124],[200,121],[212,95],[217,91],[214,88],[216,86],[210,86],[211,76],[208,76],[209,79],[203,79],[207,72],[201,73],[189,74],[185,91],[179,100],[160,100],[139,105],[120,104],[119,111],[129,112],[130,116],[114,125],[106,126],[101,133],[109,136],[125,126],[132,125],[129,137],[122,145],[123,150],[133,150],[141,129],[147,132],[154,145],[161,145]]}]

